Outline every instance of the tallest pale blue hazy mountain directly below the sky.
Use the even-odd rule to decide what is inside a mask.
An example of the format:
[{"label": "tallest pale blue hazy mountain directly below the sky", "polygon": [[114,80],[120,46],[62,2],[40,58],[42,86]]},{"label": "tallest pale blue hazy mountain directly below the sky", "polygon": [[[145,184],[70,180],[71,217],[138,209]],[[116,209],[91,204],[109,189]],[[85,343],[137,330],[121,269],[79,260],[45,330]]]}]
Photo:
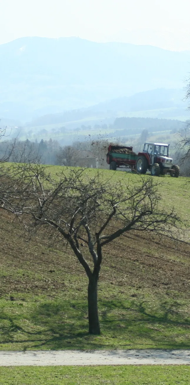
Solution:
[{"label": "tallest pale blue hazy mountain directly below the sky", "polygon": [[190,51],[75,37],[17,39],[0,45],[0,58],[0,117],[22,121],[151,89],[179,89],[190,69]]}]

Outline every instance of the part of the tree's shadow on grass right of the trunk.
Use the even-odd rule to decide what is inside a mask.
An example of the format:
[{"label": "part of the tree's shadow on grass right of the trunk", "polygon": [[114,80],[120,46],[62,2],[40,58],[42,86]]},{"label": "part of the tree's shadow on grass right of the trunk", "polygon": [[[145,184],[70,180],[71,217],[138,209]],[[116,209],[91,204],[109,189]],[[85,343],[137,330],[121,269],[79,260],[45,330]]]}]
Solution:
[{"label": "part of the tree's shadow on grass right of the trunk", "polygon": [[102,306],[105,306],[102,312],[103,329],[117,330],[118,338],[124,328],[133,337],[134,345],[139,345],[138,341],[141,341],[143,345],[158,348],[190,348],[190,319],[181,314],[182,305],[177,301],[163,301],[152,312],[147,310],[146,301],[102,301]]}]

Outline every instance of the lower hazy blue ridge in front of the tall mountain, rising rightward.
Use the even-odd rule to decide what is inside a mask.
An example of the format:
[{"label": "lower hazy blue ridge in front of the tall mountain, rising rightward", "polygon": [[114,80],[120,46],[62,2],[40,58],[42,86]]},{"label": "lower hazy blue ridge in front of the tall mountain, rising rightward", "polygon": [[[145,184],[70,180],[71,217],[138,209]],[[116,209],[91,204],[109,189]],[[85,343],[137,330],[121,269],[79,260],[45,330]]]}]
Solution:
[{"label": "lower hazy blue ridge in front of the tall mountain, rising rightward", "polygon": [[[76,122],[88,119],[96,123],[97,119],[110,117],[135,116],[136,112],[146,112],[145,117],[176,117],[190,115],[186,110],[187,102],[183,101],[182,89],[156,89],[138,94],[108,100],[88,108],[65,111],[59,114],[47,114],[33,119],[28,126],[44,126],[49,124]],[[153,112],[152,112],[153,111]],[[134,114],[133,114],[134,113]],[[154,116],[152,116],[154,114]],[[136,114],[138,115],[138,114]],[[141,114],[139,114],[140,116]],[[113,121],[113,119],[112,119]]]}]

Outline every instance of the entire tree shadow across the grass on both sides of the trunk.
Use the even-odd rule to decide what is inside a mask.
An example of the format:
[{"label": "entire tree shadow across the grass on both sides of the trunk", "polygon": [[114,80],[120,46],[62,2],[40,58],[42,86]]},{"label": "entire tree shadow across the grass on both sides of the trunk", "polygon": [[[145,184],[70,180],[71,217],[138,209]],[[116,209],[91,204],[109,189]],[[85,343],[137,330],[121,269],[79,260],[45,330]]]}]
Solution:
[{"label": "entire tree shadow across the grass on both sides of the trunk", "polygon": [[[184,333],[190,327],[190,320],[183,319],[178,312],[180,306],[176,301],[163,302],[153,312],[147,310],[145,301],[100,300],[102,335],[97,337],[88,335],[87,303],[46,301],[35,305],[28,316],[30,326],[27,329],[22,321],[1,312],[0,321],[4,322],[1,344],[20,343],[29,348],[55,350],[112,349],[117,346],[125,348],[127,341],[126,346],[136,344],[146,345],[147,348],[187,349],[190,348],[190,340],[185,339]],[[106,343],[104,337],[107,338]]]}]

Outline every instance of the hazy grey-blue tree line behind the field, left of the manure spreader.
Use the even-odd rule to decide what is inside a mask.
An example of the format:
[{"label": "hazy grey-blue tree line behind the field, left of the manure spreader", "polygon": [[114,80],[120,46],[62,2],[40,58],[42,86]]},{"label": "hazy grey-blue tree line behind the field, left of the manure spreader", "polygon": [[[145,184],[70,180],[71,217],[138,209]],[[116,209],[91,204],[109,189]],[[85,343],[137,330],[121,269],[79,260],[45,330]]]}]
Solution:
[{"label": "hazy grey-blue tree line behind the field, left of the manure spreader", "polygon": [[[14,163],[35,163],[60,166],[80,166],[89,162],[82,159],[98,159],[100,168],[107,168],[106,154],[108,141],[105,139],[73,142],[70,146],[60,146],[56,140],[49,139],[38,143],[18,139],[0,142],[0,159]],[[92,163],[92,162],[91,162]],[[90,167],[90,166],[87,166]],[[95,167],[95,166],[93,166]]]}]

